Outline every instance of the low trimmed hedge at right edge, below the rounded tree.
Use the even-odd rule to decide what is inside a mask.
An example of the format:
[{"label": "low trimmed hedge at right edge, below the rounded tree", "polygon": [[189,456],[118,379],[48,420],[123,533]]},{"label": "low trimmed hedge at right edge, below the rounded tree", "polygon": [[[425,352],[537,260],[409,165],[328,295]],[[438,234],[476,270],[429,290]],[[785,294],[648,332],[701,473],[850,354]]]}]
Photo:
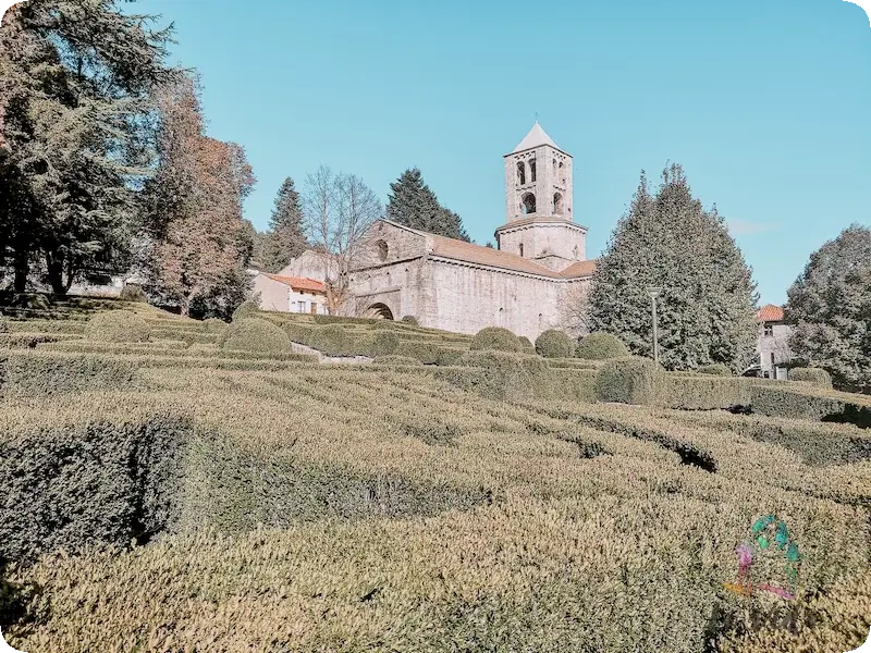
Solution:
[{"label": "low trimmed hedge at right edge, below the rounded tree", "polygon": [[832,421],[871,427],[871,399],[863,395],[786,386],[783,382],[755,384],[750,391],[752,412],[812,421]]}]

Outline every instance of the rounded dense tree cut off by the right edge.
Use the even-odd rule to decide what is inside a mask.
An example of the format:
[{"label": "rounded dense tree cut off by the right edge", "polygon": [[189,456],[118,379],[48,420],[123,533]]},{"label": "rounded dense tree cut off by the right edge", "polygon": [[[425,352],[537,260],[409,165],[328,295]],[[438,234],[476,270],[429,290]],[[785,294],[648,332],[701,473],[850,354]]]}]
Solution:
[{"label": "rounded dense tree cut off by the right edge", "polygon": [[787,296],[796,358],[839,387],[871,393],[871,229],[852,224],[825,243]]}]

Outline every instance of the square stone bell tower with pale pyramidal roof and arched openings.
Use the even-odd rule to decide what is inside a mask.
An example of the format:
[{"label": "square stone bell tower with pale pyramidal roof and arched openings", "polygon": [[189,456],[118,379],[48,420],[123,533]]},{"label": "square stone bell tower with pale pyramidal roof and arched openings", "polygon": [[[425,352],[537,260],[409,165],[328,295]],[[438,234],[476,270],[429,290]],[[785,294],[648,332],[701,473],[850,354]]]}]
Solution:
[{"label": "square stone bell tower with pale pyramidal roof and arched openings", "polygon": [[536,122],[503,159],[505,224],[495,232],[499,248],[554,271],[586,260],[587,227],[572,214],[572,156]]}]

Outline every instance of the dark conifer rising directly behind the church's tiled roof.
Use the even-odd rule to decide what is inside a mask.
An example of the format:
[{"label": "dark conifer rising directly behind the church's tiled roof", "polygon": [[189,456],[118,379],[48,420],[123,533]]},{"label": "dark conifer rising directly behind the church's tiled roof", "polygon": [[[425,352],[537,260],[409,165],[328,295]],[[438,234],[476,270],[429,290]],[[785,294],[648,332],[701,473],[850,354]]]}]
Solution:
[{"label": "dark conifer rising directly behind the church's tiled roof", "polygon": [[432,189],[424,182],[420,170],[412,168],[390,185],[387,217],[398,224],[420,231],[469,242],[463,221],[454,211],[442,207]]}]

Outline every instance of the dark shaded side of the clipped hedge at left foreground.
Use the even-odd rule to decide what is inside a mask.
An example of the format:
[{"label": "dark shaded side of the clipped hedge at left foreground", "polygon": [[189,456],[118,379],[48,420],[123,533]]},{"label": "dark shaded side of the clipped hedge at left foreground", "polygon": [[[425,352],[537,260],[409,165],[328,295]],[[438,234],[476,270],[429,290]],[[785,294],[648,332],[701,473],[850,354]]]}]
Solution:
[{"label": "dark shaded side of the clipped hedge at left foreground", "polygon": [[0,438],[0,558],[32,562],[94,543],[146,540],[175,517],[189,420],[33,424]]}]

